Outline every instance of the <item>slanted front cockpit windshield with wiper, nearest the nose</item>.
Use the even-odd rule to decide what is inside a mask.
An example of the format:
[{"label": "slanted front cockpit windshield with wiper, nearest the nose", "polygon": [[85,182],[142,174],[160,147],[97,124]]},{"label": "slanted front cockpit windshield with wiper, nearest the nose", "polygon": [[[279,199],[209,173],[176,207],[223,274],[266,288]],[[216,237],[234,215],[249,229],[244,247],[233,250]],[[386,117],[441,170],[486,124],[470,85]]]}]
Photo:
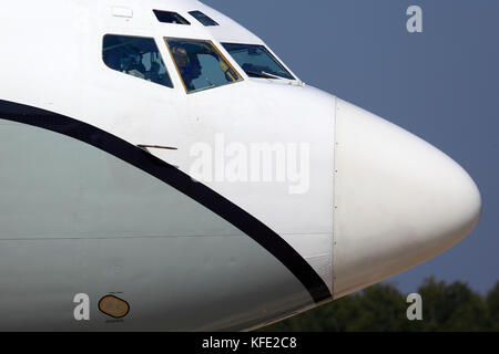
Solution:
[{"label": "slanted front cockpit windshield with wiper, nearest the nose", "polygon": [[222,45],[249,77],[295,80],[264,45],[235,43]]}]

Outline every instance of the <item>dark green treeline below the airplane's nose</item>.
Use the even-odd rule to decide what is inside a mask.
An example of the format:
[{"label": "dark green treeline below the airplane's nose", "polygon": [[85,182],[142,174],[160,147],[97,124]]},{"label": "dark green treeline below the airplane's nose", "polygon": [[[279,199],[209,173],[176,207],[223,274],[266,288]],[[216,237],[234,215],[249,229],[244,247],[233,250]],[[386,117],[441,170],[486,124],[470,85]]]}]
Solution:
[{"label": "dark green treeline below the airplane's nose", "polygon": [[499,281],[480,295],[468,284],[447,284],[429,278],[417,291],[422,298],[422,321],[409,321],[406,295],[395,285],[377,284],[262,332],[420,332],[499,331]]}]

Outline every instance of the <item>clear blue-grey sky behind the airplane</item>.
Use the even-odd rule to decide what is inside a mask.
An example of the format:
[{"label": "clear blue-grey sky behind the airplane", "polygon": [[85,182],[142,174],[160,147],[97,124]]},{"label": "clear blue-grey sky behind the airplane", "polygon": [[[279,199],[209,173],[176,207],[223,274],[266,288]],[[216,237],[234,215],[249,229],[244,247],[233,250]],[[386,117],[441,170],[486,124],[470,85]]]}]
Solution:
[{"label": "clear blue-grey sky behind the airplane", "polygon": [[[475,179],[483,215],[465,241],[389,281],[499,280],[499,1],[205,0],[261,37],[307,84],[440,148]],[[424,32],[406,30],[421,7]]]}]

